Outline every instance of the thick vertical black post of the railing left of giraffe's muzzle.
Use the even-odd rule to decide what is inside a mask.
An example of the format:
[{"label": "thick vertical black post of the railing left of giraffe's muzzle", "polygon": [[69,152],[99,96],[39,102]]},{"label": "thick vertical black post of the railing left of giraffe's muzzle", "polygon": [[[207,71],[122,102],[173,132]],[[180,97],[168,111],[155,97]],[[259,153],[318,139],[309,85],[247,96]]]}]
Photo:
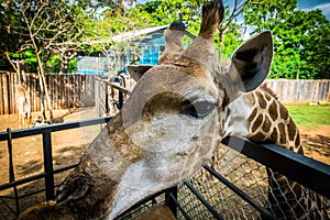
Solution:
[{"label": "thick vertical black post of the railing left of giraffe's muzzle", "polygon": [[53,153],[52,153],[52,133],[51,130],[45,129],[43,132],[43,148],[44,148],[44,172],[46,200],[54,199],[54,174],[53,174]]}]

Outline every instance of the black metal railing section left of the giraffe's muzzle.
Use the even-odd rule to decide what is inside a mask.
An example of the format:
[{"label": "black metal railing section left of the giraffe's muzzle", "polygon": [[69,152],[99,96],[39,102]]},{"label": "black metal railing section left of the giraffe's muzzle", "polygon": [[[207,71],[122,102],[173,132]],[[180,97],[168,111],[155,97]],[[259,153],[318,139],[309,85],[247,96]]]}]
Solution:
[{"label": "black metal railing section left of the giraffe's muzzle", "polygon": [[[13,197],[6,197],[7,199],[13,199],[15,207],[14,207],[14,216],[18,216],[20,213],[20,199],[23,197],[32,196],[36,193],[45,191],[45,199],[52,200],[54,199],[54,175],[72,169],[77,164],[70,164],[57,169],[53,168],[53,151],[52,151],[52,133],[57,131],[64,131],[64,130],[70,130],[70,129],[77,129],[82,127],[89,127],[95,124],[105,123],[111,120],[111,117],[106,118],[99,118],[99,119],[92,119],[92,120],[85,120],[79,122],[68,122],[63,124],[52,124],[46,127],[37,127],[37,128],[31,128],[31,129],[24,129],[24,130],[14,130],[11,131],[10,129],[7,129],[7,132],[0,132],[0,141],[7,141],[8,142],[8,155],[9,155],[9,183],[0,185],[0,191],[7,190],[7,189],[13,189],[14,196]],[[13,153],[12,153],[12,140],[25,138],[25,136],[32,136],[36,134],[42,134],[42,146],[43,146],[43,167],[44,172],[29,176],[21,179],[15,179],[15,174],[13,169]],[[18,194],[18,186],[21,186],[23,184],[32,183],[37,179],[44,178],[45,188],[41,189],[38,191],[30,193],[24,196],[19,196]],[[1,196],[0,196],[1,199]],[[4,201],[2,201],[4,202]],[[1,216],[0,216],[1,217]]]}]

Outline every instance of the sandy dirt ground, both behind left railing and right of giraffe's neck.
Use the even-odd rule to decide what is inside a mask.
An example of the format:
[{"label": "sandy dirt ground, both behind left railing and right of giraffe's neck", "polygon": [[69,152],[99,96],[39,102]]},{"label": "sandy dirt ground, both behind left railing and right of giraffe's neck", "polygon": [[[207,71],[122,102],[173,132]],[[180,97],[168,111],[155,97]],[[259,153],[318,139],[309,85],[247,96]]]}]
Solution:
[{"label": "sandy dirt ground, both behind left railing and right of giraffe's neck", "polygon": [[[40,112],[33,113],[33,119],[41,116]],[[97,117],[96,109],[78,109],[78,110],[62,110],[54,111],[54,118],[63,118],[64,122],[79,121],[86,119],[94,119]],[[12,130],[19,128],[19,117],[16,114],[0,116],[0,132],[6,131],[7,128]],[[320,127],[317,130],[307,128],[299,128],[301,134],[301,141],[305,146],[305,154],[309,157],[330,164],[330,127]],[[94,125],[81,129],[74,129],[61,132],[54,132],[52,134],[53,143],[53,157],[54,168],[63,167],[68,164],[77,163],[84,153],[86,145],[90,143],[100,131],[100,125]],[[13,140],[13,161],[15,179],[29,177],[43,172],[43,148],[42,136],[34,135],[23,139]],[[9,161],[7,142],[0,142],[0,185],[9,183]],[[55,175],[55,183],[58,185],[67,175],[62,173]],[[43,179],[35,183],[30,183],[19,187],[19,195],[24,196],[31,191],[40,190],[43,186]],[[0,191],[1,196],[12,196],[12,190]],[[44,199],[44,194],[33,197],[23,198],[20,202],[21,210],[26,207],[37,204]],[[4,202],[6,201],[6,202]],[[7,205],[12,206],[12,199],[0,198],[0,220],[1,219],[14,219],[10,216]],[[1,215],[2,213],[2,215]]]}]

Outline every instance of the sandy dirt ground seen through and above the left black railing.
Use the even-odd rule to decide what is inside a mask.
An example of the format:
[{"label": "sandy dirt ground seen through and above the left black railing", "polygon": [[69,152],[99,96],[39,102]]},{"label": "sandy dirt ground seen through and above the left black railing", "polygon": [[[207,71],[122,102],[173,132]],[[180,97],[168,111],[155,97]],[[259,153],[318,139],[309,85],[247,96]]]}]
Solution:
[{"label": "sandy dirt ground seen through and above the left black railing", "polygon": [[[33,112],[33,119],[41,116],[41,112]],[[55,119],[63,119],[64,122],[80,121],[97,118],[95,108],[77,109],[77,110],[61,110],[54,111]],[[0,132],[6,131],[7,128],[11,130],[19,129],[19,116],[0,116]],[[78,163],[86,145],[90,143],[100,131],[100,125],[85,127],[79,129],[59,131],[52,133],[52,148],[53,148],[53,166],[54,169],[67,166],[69,164]],[[13,145],[13,162],[15,179],[30,177],[41,174],[43,172],[43,147],[42,135],[26,136],[22,139],[14,139]],[[9,183],[9,158],[7,141],[0,142],[0,185]],[[68,172],[55,175],[55,185],[63,182]],[[35,180],[30,184],[18,187],[19,196],[24,197],[35,190],[44,188],[44,180]],[[2,198],[1,198],[2,197]],[[0,220],[15,219],[12,210],[9,207],[14,207],[13,190],[0,191]],[[44,193],[36,194],[33,197],[25,197],[20,200],[20,210],[25,210],[32,205],[44,201]],[[9,207],[8,207],[9,206]],[[15,210],[14,210],[15,211]]]}]

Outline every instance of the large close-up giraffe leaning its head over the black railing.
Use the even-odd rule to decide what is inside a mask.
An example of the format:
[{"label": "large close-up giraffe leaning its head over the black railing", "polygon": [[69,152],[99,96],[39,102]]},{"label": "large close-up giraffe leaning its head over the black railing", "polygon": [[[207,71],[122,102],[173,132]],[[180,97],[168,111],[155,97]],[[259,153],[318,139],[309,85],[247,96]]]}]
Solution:
[{"label": "large close-up giraffe leaning its head over the black railing", "polygon": [[[190,176],[228,135],[268,140],[302,153],[287,110],[257,88],[271,68],[272,34],[246,41],[228,70],[219,67],[213,40],[223,11],[221,1],[204,6],[198,37],[187,48],[184,25],[169,25],[158,65],[130,67],[140,78],[130,99],[87,147],[55,200],[29,208],[20,219],[114,219],[143,197]],[[270,188],[282,187],[285,177],[268,170]],[[307,197],[295,183],[283,186],[284,194],[288,186],[297,198]],[[282,198],[275,190],[272,195]],[[289,218],[287,208],[279,208]]]}]

